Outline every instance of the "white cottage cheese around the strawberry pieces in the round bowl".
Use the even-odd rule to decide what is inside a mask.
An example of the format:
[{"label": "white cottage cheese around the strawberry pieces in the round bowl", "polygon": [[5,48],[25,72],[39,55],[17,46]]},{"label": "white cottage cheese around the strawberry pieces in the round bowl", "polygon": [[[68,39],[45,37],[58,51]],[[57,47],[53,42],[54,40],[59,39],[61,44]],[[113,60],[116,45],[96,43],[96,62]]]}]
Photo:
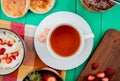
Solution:
[{"label": "white cottage cheese around the strawberry pieces in the round bowl", "polygon": [[[23,44],[20,40],[20,38],[14,34],[13,32],[6,31],[6,30],[0,30],[0,39],[11,41],[13,43],[12,46],[8,46],[7,44],[1,45],[0,44],[0,49],[5,48],[6,51],[4,54],[0,54],[0,68],[13,68],[17,66],[19,63],[22,62],[23,57],[24,57],[24,47]],[[18,52],[18,55],[12,54],[13,52]],[[6,58],[4,58],[5,54],[8,54]],[[14,58],[11,58],[11,56],[14,56]],[[10,58],[10,60],[9,60]],[[7,63],[7,59],[10,63]]]}]

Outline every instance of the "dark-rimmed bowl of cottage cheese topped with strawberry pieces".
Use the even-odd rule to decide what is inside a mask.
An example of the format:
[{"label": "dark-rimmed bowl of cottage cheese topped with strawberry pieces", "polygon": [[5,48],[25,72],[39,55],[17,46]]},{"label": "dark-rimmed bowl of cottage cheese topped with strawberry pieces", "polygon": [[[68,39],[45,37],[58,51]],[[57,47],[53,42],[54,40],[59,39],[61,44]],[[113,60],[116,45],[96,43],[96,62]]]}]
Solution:
[{"label": "dark-rimmed bowl of cottage cheese topped with strawberry pieces", "polygon": [[25,57],[25,44],[14,31],[0,28],[0,75],[17,70]]}]

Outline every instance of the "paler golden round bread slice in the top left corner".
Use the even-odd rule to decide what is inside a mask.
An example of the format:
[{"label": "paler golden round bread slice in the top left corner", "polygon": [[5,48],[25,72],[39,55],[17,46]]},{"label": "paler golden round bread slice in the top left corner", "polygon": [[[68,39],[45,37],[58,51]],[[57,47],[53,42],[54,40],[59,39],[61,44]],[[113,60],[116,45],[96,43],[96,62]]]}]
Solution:
[{"label": "paler golden round bread slice in the top left corner", "polygon": [[11,18],[23,17],[29,9],[29,0],[1,0],[3,12]]}]

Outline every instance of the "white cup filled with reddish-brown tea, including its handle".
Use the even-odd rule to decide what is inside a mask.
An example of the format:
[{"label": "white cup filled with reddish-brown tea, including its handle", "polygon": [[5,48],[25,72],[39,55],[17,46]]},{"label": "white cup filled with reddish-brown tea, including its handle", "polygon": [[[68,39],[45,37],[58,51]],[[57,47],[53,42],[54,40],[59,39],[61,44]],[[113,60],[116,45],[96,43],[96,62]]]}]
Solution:
[{"label": "white cup filled with reddish-brown tea, including its handle", "polygon": [[77,24],[60,23],[50,29],[47,48],[55,58],[73,59],[83,50],[85,40],[93,37],[93,33],[84,34]]}]

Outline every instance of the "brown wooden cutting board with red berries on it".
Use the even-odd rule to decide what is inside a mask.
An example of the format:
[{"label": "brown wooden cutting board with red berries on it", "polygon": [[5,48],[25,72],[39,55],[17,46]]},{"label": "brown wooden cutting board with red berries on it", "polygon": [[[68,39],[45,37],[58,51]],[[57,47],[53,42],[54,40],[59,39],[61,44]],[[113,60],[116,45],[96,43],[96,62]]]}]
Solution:
[{"label": "brown wooden cutting board with red berries on it", "polygon": [[[99,64],[96,70],[91,68],[93,62]],[[107,68],[113,68],[116,71],[110,81],[120,81],[120,32],[113,29],[106,32],[77,81],[84,81],[83,78],[88,74],[96,74]]]}]

